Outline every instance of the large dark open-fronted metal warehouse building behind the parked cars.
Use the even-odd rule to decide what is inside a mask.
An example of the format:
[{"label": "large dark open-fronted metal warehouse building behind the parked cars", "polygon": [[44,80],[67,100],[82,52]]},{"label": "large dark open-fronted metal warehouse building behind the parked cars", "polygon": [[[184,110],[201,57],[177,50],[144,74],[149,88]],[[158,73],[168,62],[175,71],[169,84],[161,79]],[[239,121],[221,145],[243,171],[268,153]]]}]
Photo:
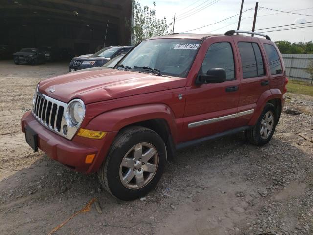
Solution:
[{"label": "large dark open-fronted metal warehouse building behind the parked cars", "polygon": [[130,45],[132,0],[0,0],[0,45],[53,46],[76,55]]}]

